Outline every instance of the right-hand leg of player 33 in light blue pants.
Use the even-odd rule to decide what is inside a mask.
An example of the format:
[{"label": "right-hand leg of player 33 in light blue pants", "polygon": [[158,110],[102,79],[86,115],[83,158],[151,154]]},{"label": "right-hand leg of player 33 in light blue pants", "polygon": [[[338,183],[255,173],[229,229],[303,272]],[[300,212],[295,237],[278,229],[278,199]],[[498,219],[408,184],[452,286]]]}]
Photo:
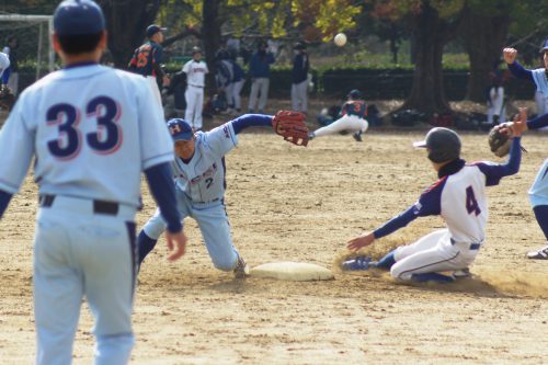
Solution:
[{"label": "right-hand leg of player 33 in light blue pants", "polygon": [[84,262],[84,292],[95,319],[94,364],[127,364],[135,344],[132,330],[137,275],[135,223],[94,215],[80,231],[87,246],[81,246],[79,252]]}]

